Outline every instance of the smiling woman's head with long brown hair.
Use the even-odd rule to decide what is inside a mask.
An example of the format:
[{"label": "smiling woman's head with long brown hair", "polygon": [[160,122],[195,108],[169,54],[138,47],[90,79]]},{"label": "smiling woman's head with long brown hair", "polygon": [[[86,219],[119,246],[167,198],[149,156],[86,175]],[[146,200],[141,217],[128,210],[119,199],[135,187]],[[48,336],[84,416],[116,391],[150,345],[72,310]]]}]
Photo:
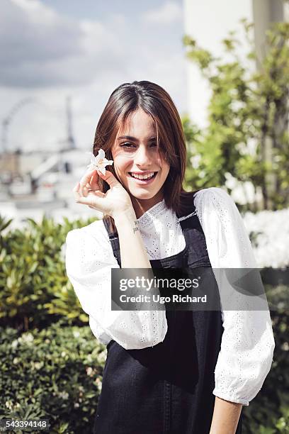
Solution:
[{"label": "smiling woman's head with long brown hair", "polygon": [[[191,194],[182,188],[186,145],[181,119],[162,87],[135,82],[115,89],[96,128],[94,154],[99,148],[115,161],[111,171],[130,194],[137,217],[162,198],[174,211],[191,208]],[[152,180],[139,179],[152,172]],[[108,190],[106,182],[99,184]],[[106,219],[115,230],[113,220]]]}]

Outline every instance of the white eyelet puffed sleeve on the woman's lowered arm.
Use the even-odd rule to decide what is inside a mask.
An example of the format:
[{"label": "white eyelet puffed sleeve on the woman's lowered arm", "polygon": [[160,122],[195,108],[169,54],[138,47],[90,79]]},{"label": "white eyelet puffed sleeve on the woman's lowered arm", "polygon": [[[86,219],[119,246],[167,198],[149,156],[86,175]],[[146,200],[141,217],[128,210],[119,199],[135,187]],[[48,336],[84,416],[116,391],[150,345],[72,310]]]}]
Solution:
[{"label": "white eyelet puffed sleeve on the woman's lowered arm", "polygon": [[[256,269],[249,236],[229,194],[203,189],[196,193],[195,205],[213,271]],[[220,275],[217,270],[214,274],[220,290]],[[248,406],[271,369],[275,343],[267,302],[262,309],[222,310],[224,330],[212,392],[221,399]]]}]

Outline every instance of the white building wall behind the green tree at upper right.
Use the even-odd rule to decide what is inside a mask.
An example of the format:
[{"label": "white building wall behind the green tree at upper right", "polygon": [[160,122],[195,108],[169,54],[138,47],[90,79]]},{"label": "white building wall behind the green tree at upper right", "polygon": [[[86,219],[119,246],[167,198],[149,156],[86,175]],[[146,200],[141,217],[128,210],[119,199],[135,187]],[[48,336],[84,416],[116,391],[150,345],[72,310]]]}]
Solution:
[{"label": "white building wall behind the green tree at upper right", "polygon": [[[259,58],[266,52],[265,33],[270,23],[289,19],[289,5],[284,4],[283,0],[183,0],[183,4],[186,35],[195,39],[201,48],[224,60],[222,40],[229,31],[242,30],[242,18],[255,24],[254,35]],[[242,46],[239,48],[239,55],[246,53],[249,48],[242,35],[240,31]],[[188,60],[186,63],[188,114],[203,128],[208,123],[206,109],[210,99],[209,87],[198,67]]]}]

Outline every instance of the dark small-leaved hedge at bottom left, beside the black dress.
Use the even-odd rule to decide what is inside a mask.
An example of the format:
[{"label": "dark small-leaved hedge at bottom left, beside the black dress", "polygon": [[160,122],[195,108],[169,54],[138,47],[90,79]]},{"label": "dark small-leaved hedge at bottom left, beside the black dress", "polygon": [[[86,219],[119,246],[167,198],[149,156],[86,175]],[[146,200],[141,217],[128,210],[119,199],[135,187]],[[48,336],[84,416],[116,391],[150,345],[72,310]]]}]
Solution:
[{"label": "dark small-leaved hedge at bottom left, beside the black dress", "polygon": [[48,418],[50,433],[90,433],[106,347],[89,327],[19,335],[0,328],[0,417]]}]

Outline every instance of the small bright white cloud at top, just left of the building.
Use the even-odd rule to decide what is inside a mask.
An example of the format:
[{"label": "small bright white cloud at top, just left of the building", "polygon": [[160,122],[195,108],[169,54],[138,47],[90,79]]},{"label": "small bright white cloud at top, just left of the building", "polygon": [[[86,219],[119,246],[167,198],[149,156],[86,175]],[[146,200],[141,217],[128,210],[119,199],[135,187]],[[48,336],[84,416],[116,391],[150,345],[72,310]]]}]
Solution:
[{"label": "small bright white cloud at top, just left of the building", "polygon": [[152,9],[143,14],[144,21],[156,24],[171,24],[180,21],[183,17],[182,9],[174,1],[166,1],[157,9]]}]

